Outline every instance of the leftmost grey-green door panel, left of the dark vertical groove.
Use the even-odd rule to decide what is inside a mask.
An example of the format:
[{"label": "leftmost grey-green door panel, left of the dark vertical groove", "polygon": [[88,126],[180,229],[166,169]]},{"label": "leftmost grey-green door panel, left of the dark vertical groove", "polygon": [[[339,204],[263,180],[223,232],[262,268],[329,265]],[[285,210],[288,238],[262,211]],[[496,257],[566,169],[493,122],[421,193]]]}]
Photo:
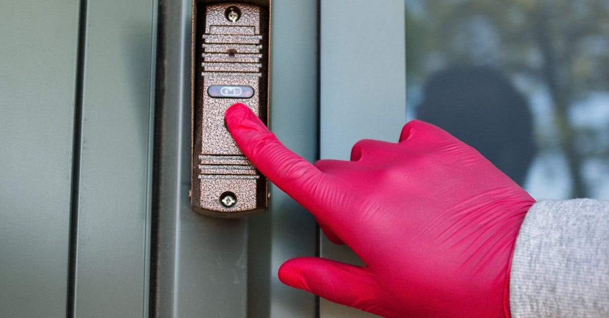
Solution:
[{"label": "leftmost grey-green door panel, left of the dark vertical groove", "polygon": [[0,29],[0,316],[65,317],[79,1],[2,1]]}]

